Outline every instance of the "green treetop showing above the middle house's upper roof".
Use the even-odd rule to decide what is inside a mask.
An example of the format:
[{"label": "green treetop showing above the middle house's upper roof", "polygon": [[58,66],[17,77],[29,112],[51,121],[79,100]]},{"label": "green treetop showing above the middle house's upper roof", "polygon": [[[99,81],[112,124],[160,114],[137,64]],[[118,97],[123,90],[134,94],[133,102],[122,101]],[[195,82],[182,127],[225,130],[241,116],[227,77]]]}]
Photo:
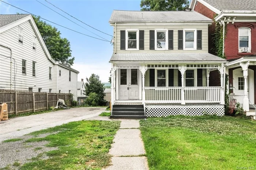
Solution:
[{"label": "green treetop showing above the middle house's upper roof", "polygon": [[181,11],[189,7],[189,0],[141,0],[141,11]]}]

